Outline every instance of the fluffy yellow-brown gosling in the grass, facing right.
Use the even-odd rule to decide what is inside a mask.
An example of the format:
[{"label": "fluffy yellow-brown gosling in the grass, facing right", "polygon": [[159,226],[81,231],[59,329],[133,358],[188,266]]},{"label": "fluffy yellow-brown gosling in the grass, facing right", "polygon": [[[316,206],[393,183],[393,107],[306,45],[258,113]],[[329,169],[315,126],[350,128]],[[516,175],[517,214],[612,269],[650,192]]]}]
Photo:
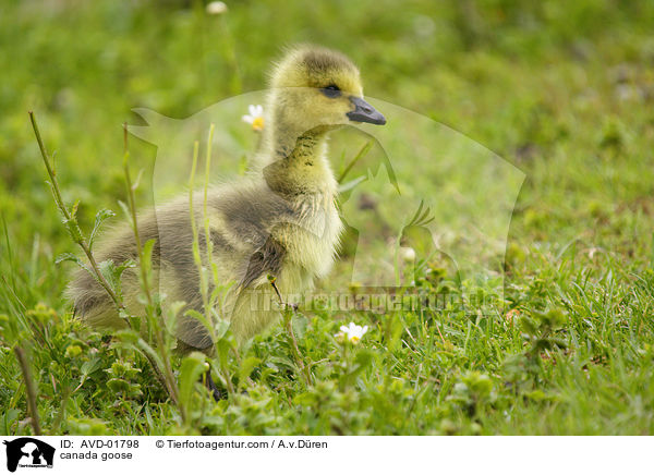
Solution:
[{"label": "fluffy yellow-brown gosling in the grass, facing right", "polygon": [[[360,73],[343,54],[305,46],[290,50],[275,68],[268,95],[268,117],[255,171],[237,183],[210,190],[208,212],[211,259],[220,282],[234,282],[225,299],[225,315],[238,341],[269,325],[279,312],[262,305],[275,300],[268,276],[284,302],[311,289],[329,271],[342,224],[336,208],[337,182],[327,160],[326,135],[348,123],[384,124],[386,120],[363,99]],[[197,195],[199,203],[202,197]],[[198,271],[193,259],[191,219],[203,229],[204,216],[191,218],[180,198],[138,218],[143,240],[155,239],[153,267],[169,302],[184,301],[203,312]],[[201,252],[207,245],[201,233]],[[110,233],[97,253],[101,260],[122,263],[136,257],[130,230]],[[125,305],[138,304],[138,281],[123,275]],[[76,314],[95,327],[121,328],[124,322],[98,283],[80,271],[70,287]],[[180,317],[175,332],[183,350],[207,350],[209,332],[196,319]]]}]

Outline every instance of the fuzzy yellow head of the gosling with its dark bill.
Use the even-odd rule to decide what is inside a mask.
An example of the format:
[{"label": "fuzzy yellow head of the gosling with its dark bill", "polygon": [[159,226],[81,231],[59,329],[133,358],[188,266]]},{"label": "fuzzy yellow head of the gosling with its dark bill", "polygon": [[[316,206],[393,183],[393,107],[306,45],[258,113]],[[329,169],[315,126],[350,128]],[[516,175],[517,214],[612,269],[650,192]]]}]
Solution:
[{"label": "fuzzy yellow head of the gosling with its dark bill", "polygon": [[384,115],[363,99],[361,75],[344,54],[303,46],[290,50],[271,77],[270,108],[277,127],[296,136],[348,123],[383,125]]}]

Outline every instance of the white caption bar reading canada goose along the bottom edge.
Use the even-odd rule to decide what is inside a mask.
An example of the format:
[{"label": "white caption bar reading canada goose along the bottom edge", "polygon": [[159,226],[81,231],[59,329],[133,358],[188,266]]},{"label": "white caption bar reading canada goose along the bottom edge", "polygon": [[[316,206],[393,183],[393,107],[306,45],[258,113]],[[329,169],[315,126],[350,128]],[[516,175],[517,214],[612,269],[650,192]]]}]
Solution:
[{"label": "white caption bar reading canada goose along the bottom edge", "polygon": [[[649,437],[0,437],[0,473],[637,473]],[[43,471],[45,468],[45,471]]]}]

